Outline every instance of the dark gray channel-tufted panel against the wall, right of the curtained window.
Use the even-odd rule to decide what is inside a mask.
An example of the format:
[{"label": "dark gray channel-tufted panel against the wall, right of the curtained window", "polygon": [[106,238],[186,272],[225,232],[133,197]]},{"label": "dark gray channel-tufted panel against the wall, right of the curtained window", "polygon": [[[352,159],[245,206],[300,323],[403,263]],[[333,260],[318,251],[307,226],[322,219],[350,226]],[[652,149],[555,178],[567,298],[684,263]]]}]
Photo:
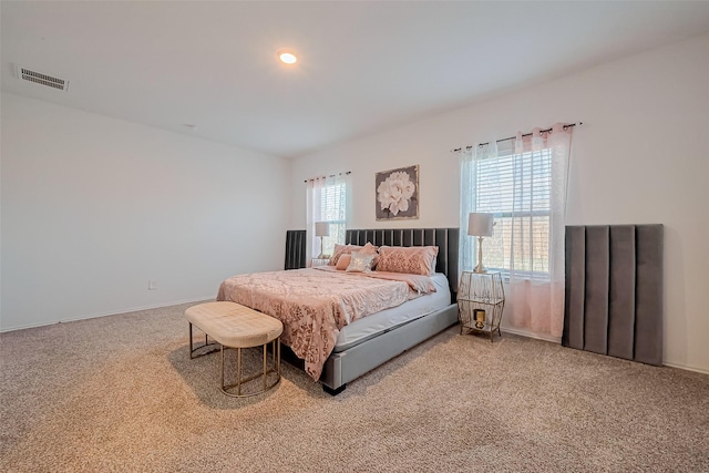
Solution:
[{"label": "dark gray channel-tufted panel against the wall, right of the curtained window", "polygon": [[662,363],[662,226],[566,227],[566,347]]}]

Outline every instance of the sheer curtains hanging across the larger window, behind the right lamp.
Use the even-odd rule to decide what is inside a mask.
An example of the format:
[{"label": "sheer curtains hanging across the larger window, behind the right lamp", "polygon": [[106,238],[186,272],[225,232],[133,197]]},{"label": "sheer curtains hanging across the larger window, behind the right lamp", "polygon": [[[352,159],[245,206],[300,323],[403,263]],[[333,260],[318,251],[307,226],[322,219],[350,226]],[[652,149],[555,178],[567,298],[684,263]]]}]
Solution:
[{"label": "sheer curtains hanging across the larger window, behind the right lamp", "polygon": [[[467,214],[495,214],[485,266],[502,269],[511,327],[561,337],[564,329],[564,226],[573,127],[474,146],[461,153],[461,268],[476,264]],[[540,185],[543,184],[543,185]],[[485,187],[481,189],[481,186]],[[538,188],[545,188],[538,193]],[[484,197],[484,198],[483,198]]]}]

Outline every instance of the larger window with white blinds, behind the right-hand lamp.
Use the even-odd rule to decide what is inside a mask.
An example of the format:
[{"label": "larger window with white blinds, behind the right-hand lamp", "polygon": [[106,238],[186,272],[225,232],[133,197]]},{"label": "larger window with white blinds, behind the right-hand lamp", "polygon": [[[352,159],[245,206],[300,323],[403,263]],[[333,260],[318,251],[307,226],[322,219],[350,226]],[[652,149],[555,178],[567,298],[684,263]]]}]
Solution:
[{"label": "larger window with white blinds, behind the right-hand lamp", "polygon": [[507,154],[475,164],[474,209],[495,215],[483,243],[487,268],[548,278],[552,152]]}]

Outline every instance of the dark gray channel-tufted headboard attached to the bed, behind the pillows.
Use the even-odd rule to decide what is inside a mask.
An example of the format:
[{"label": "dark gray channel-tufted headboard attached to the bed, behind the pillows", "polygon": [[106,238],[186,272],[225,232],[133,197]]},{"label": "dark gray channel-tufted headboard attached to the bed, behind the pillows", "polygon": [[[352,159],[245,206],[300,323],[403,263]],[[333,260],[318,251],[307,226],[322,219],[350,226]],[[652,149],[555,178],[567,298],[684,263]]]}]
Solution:
[{"label": "dark gray channel-tufted headboard attached to the bed, behind the pillows", "polygon": [[438,246],[439,256],[435,271],[448,276],[451,288],[451,300],[458,294],[458,228],[377,228],[347,230],[345,243],[374,246]]}]

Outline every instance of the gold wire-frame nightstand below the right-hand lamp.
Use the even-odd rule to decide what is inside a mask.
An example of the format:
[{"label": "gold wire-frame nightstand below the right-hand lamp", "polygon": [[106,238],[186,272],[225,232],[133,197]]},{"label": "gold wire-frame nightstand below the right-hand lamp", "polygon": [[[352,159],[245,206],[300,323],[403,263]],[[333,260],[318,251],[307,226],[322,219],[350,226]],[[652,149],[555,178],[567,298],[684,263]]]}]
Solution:
[{"label": "gold wire-frame nightstand below the right-hand lamp", "polygon": [[500,322],[505,308],[505,290],[500,273],[463,271],[458,288],[458,318],[461,335],[467,329],[475,333],[495,331],[502,337]]}]

